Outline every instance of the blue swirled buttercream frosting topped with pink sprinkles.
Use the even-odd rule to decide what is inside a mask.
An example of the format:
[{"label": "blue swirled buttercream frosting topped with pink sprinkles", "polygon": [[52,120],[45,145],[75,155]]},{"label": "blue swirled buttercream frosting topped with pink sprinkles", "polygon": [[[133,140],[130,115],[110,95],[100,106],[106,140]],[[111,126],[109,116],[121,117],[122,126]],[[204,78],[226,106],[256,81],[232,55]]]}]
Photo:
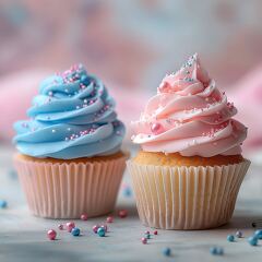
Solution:
[{"label": "blue swirled buttercream frosting topped with pink sprinkles", "polygon": [[82,64],[44,80],[27,111],[14,123],[17,150],[34,157],[72,159],[120,150],[124,126],[103,82]]}]

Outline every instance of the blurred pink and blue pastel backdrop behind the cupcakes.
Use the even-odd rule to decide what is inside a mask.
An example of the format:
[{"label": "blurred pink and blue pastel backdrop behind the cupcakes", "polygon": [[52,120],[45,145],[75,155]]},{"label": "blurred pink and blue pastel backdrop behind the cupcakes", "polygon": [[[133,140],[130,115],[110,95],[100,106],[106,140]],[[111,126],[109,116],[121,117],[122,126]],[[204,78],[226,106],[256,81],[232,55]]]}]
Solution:
[{"label": "blurred pink and blue pastel backdrop behind the cupcakes", "polygon": [[84,63],[128,124],[163,76],[198,51],[249,127],[245,151],[260,151],[261,10],[261,0],[1,0],[0,144],[11,143],[12,122],[49,73]]}]

